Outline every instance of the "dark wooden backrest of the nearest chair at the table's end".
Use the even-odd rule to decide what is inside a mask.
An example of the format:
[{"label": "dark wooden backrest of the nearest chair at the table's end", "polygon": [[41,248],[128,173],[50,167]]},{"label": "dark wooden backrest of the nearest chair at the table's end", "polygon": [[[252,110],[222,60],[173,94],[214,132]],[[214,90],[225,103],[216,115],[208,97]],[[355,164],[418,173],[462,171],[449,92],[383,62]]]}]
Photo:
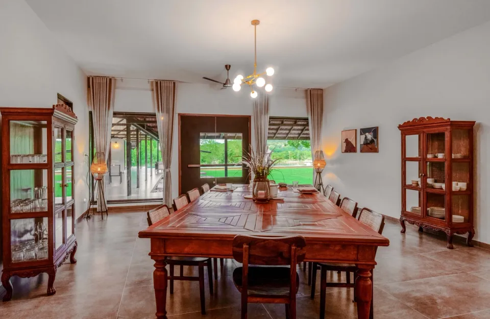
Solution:
[{"label": "dark wooden backrest of the nearest chair at the table's end", "polygon": [[306,240],[303,236],[236,235],[232,245],[233,258],[236,261],[254,265],[295,266],[295,263],[302,262],[306,255],[303,249],[306,247]]}]

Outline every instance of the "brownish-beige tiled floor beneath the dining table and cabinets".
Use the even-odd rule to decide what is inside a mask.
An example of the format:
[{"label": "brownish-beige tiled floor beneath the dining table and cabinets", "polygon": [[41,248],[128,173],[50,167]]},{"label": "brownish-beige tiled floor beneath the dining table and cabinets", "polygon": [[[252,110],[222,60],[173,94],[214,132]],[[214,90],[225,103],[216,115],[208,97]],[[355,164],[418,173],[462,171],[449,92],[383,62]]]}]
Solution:
[{"label": "brownish-beige tiled floor beneath the dining table and cabinets", "polygon": [[[97,216],[77,224],[78,263],[58,269],[56,295],[45,295],[45,275],[14,277],[13,299],[0,304],[0,318],[154,318],[150,241],[137,238],[145,227],[143,213],[114,213],[103,221]],[[399,224],[392,222],[387,222],[384,235],[390,247],[378,250],[375,318],[490,318],[490,251],[459,242],[450,251],[444,237],[419,233],[411,226],[400,234]],[[200,313],[199,284],[176,282],[174,295],[168,295],[169,319],[239,318],[239,293],[230,277],[235,267],[227,260],[214,296],[206,290],[205,316]],[[195,273],[191,268],[185,272]],[[318,318],[319,296],[309,298],[305,275],[299,273],[298,318]],[[329,276],[338,280],[337,274]],[[326,317],[356,318],[352,298],[352,289],[330,288]],[[284,317],[283,305],[249,306],[249,318]]]}]

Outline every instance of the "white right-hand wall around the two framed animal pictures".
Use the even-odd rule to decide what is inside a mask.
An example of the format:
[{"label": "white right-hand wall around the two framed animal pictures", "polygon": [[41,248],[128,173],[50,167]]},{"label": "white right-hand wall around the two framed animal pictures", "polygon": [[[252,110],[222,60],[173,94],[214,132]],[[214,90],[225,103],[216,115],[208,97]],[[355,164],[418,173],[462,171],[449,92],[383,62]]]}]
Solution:
[{"label": "white right-hand wall around the two framed animal pictures", "polygon": [[[490,22],[328,88],[325,181],[360,207],[399,217],[401,138],[397,126],[421,116],[477,121],[475,239],[490,243]],[[379,154],[340,152],[342,130],[357,128],[359,133],[359,128],[372,126],[379,126]]]}]

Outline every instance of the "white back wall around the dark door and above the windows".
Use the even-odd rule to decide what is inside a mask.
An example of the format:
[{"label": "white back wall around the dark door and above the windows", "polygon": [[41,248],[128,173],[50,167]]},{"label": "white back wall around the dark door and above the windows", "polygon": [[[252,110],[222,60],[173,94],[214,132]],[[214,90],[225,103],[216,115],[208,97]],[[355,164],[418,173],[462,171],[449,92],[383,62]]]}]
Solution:
[{"label": "white back wall around the dark door and above the windows", "polygon": [[[232,114],[252,115],[253,100],[249,90],[235,92],[231,88],[220,90],[217,86],[206,84],[178,83],[176,96],[176,117],[174,126],[174,145],[172,152],[172,192],[179,192],[179,131],[178,113],[191,114]],[[118,81],[115,93],[114,111],[153,112],[151,92],[146,81]],[[307,117],[304,90],[277,89],[269,100],[271,116]],[[253,125],[253,118],[252,118]],[[254,141],[252,126],[252,141]]]}]

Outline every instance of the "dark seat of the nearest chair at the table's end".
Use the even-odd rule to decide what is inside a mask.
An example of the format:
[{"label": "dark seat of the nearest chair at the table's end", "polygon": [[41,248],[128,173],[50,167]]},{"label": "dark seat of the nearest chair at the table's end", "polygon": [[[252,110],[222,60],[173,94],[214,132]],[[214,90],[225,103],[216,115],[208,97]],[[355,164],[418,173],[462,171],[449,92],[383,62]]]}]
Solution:
[{"label": "dark seat of the nearest chair at the table's end", "polygon": [[[289,296],[289,267],[253,266],[249,267],[248,294],[256,296]],[[296,292],[300,278],[296,273]],[[233,283],[241,292],[242,267],[233,271]]]}]

